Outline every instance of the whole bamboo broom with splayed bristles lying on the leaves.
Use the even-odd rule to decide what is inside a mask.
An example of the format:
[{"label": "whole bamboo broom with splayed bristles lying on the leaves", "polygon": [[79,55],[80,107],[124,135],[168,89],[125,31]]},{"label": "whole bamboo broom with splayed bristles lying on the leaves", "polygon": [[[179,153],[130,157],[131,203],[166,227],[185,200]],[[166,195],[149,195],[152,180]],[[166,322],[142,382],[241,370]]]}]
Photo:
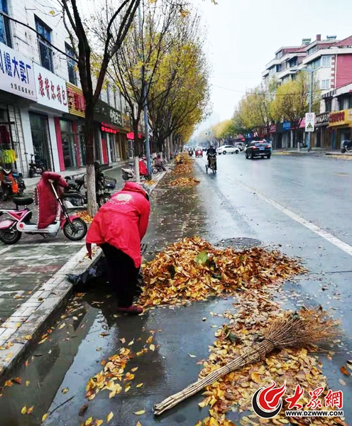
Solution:
[{"label": "whole bamboo broom with splayed bristles lying on the leaves", "polygon": [[326,317],[326,312],[321,309],[299,312],[285,312],[283,317],[273,321],[263,335],[263,340],[252,346],[245,354],[237,356],[226,366],[212,371],[208,376],[187,386],[183,391],[169,396],[162,403],[154,405],[154,415],[160,415],[166,410],[175,407],[181,401],[189,398],[206,386],[211,385],[222,376],[231,371],[243,368],[255,361],[264,359],[273,349],[301,348],[305,346],[321,345],[328,343],[329,339],[340,333],[338,322]]}]

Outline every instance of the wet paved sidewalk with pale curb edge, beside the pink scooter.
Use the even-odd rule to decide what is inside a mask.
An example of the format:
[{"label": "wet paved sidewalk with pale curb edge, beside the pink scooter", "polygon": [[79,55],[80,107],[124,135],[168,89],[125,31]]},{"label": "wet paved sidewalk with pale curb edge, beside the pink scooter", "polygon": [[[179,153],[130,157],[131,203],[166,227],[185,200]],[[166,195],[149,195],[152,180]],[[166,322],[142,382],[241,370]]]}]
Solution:
[{"label": "wet paved sidewalk with pale curb edge, beside the pink scooter", "polygon": [[[115,165],[119,168],[121,164]],[[152,192],[165,173],[160,173]],[[93,261],[87,258],[84,241],[57,237],[40,243],[23,239],[22,244],[0,245],[0,383],[1,377],[21,359],[27,346],[38,339],[55,312],[72,293],[68,273],[83,273]],[[38,241],[38,240],[37,240]]]}]

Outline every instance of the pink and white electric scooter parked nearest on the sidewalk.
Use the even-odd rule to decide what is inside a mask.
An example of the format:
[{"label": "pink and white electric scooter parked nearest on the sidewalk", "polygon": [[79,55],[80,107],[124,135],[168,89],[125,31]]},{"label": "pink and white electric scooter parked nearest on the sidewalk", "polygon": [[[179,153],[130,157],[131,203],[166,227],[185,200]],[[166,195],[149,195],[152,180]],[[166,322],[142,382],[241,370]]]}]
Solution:
[{"label": "pink and white electric scooter parked nearest on the sidewalk", "polygon": [[[36,222],[31,222],[32,211],[28,208],[33,204],[31,197],[15,197],[13,202],[16,209],[0,209],[0,216],[6,214],[10,219],[5,219],[0,222],[0,241],[4,244],[15,244],[21,239],[22,234],[41,235],[44,238],[47,236],[57,236],[57,233],[62,229],[67,239],[71,241],[79,241],[84,239],[87,234],[87,224],[80,219],[76,214],[69,215],[65,207],[64,197],[58,195],[53,182],[50,185],[57,200],[57,216],[55,222],[44,229],[38,229]],[[23,209],[18,209],[23,207]]]}]

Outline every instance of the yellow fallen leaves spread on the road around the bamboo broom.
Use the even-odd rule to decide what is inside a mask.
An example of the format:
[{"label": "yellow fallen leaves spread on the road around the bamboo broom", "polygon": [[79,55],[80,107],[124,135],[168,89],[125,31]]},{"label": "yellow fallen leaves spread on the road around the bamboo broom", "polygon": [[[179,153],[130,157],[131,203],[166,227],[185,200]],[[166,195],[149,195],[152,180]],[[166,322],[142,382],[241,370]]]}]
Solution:
[{"label": "yellow fallen leaves spread on the road around the bamboo broom", "polygon": [[[273,288],[270,289],[273,291]],[[275,293],[280,288],[275,289]],[[225,312],[219,315],[229,319],[217,330],[214,346],[211,346],[211,354],[204,361],[204,369],[199,373],[199,378],[206,376],[214,369],[224,366],[238,355],[243,355],[253,344],[258,345],[258,336],[263,332],[270,322],[282,317],[284,314],[278,303],[273,302],[273,294],[262,289],[246,292],[238,296],[238,311]],[[321,372],[321,363],[309,354],[307,349],[283,349],[268,354],[263,361],[250,364],[241,370],[233,371],[216,383],[206,388],[203,393],[205,399],[199,403],[201,408],[209,405],[210,418],[216,420],[214,425],[226,424],[225,413],[234,406],[236,411],[252,410],[251,399],[255,391],[261,387],[268,387],[275,381],[277,387],[286,382],[286,392],[282,401],[284,403],[280,413],[273,419],[265,420],[258,415],[248,415],[241,419],[242,425],[346,425],[340,417],[285,417],[288,403],[285,398],[295,393],[297,385],[304,388],[304,395],[299,403],[307,405],[310,397],[308,392],[320,386],[324,387],[324,393],[319,397],[324,409],[324,397],[329,391],[326,378]],[[209,417],[208,417],[209,418]],[[207,420],[207,419],[206,419]],[[196,426],[201,426],[198,423]],[[205,425],[211,425],[210,422]]]}]

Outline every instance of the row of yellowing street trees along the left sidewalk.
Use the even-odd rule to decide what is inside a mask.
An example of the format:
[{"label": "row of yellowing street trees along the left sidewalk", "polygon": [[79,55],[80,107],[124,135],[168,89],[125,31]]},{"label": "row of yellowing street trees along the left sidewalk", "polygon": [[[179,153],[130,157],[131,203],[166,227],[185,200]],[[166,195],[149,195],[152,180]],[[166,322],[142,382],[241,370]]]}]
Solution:
[{"label": "row of yellowing street trees along the left sidewalk", "polygon": [[[187,0],[57,1],[86,104],[88,210],[94,215],[94,107],[104,84],[118,88],[131,109],[137,154],[142,148],[138,124],[147,101],[158,141],[171,133],[187,138],[207,114],[204,34]],[[172,106],[172,113],[165,104]]]}]

